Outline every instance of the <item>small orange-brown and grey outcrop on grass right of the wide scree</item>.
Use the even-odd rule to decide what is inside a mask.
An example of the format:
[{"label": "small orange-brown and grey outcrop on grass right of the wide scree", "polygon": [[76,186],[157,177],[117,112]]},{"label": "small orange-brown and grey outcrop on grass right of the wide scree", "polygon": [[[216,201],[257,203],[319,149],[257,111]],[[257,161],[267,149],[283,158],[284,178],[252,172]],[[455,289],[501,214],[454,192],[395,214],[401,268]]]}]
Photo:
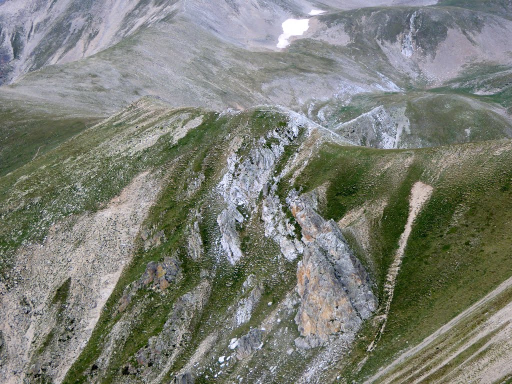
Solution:
[{"label": "small orange-brown and grey outcrop on grass right of the wide scree", "polygon": [[154,261],[147,263],[142,276],[124,289],[117,311],[124,311],[131,303],[133,296],[142,287],[164,292],[170,284],[176,282],[179,272],[180,262],[176,258],[166,256],[161,263]]}]

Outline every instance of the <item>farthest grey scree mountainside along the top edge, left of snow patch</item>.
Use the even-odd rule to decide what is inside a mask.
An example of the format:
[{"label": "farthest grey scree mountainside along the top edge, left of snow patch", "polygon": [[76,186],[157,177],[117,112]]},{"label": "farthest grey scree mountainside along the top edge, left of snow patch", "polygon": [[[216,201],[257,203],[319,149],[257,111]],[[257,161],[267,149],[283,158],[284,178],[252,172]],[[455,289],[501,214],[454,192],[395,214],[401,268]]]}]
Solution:
[{"label": "farthest grey scree mountainside along the top edge, left of snow patch", "polygon": [[[2,4],[4,3],[4,4]],[[76,61],[105,50],[137,31],[190,14],[190,22],[218,37],[248,46],[273,46],[268,32],[280,33],[280,17],[307,14],[314,6],[329,9],[387,5],[390,1],[360,0],[316,3],[209,2],[202,0],[7,0],[0,3],[0,85],[56,63]],[[392,2],[432,4],[424,0]],[[395,4],[396,3],[396,4]],[[284,19],[283,19],[284,20]],[[262,31],[266,31],[262,33]]]}]

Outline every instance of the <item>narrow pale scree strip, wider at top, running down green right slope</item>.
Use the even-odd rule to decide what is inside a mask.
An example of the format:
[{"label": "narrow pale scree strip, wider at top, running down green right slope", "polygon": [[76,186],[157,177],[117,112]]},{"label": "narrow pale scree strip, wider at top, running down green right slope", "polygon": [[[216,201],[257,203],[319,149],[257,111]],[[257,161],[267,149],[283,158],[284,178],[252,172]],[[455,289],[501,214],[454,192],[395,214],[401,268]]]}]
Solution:
[{"label": "narrow pale scree strip, wider at top, running down green right slope", "polygon": [[384,314],[381,315],[383,318],[382,326],[375,336],[375,339],[368,347],[368,352],[371,352],[375,349],[377,342],[380,340],[382,333],[386,329],[388,314],[391,307],[391,302],[393,301],[393,294],[395,292],[396,278],[398,276],[398,272],[400,271],[400,265],[402,264],[403,252],[406,250],[407,241],[409,240],[414,220],[416,220],[416,216],[418,216],[425,202],[429,200],[433,190],[434,188],[432,188],[432,186],[422,183],[421,181],[416,182],[411,189],[411,197],[409,200],[409,217],[407,218],[406,227],[403,230],[400,239],[398,240],[398,250],[395,254],[395,260],[393,261],[393,264],[391,264],[386,279],[386,284],[384,285],[384,291],[387,300]]}]

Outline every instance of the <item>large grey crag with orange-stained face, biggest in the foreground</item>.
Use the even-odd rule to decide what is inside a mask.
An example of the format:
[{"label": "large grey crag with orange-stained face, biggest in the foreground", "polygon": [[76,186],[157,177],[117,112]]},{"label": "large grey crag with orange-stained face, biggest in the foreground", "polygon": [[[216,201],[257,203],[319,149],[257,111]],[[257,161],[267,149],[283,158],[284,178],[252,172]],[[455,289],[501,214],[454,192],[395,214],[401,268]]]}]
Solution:
[{"label": "large grey crag with orange-stained face, biggest in the foreground", "polygon": [[303,260],[297,268],[301,306],[295,323],[299,348],[317,347],[331,335],[357,329],[377,308],[370,276],[350,250],[336,223],[316,211],[316,197],[292,191],[287,199],[302,228]]}]

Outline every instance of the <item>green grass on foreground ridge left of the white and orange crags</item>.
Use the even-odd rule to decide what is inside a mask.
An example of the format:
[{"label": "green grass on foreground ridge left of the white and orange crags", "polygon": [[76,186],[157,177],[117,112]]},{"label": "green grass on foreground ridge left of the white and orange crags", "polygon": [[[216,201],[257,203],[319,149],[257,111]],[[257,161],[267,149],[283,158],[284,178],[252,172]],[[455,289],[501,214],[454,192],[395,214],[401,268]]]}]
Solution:
[{"label": "green grass on foreground ridge left of the white and orange crags", "polygon": [[[130,154],[130,145],[124,146],[124,140],[128,140],[128,143],[141,141],[145,129],[148,129],[148,119],[153,119],[150,125],[160,125],[180,114],[188,114],[186,119],[203,115],[204,120],[202,125],[176,144],[172,143],[167,134],[151,148],[136,154]],[[145,169],[155,169],[154,172],[164,170],[161,175],[166,180],[166,187],[146,225],[156,225],[158,229],[163,229],[168,242],[148,252],[139,244],[132,263],[123,272],[105,306],[91,342],[69,372],[66,382],[87,380],[94,360],[101,353],[112,327],[121,317],[113,313],[124,287],[138,279],[150,261],[159,261],[166,255],[177,254],[182,263],[183,279],[165,296],[142,291],[134,298],[127,310],[130,316],[133,315],[133,329],[125,344],[116,346],[117,354],[112,357],[109,369],[102,372],[104,382],[119,380],[121,368],[126,362],[133,361],[135,352],[146,345],[148,338],[160,332],[176,299],[198,284],[201,269],[217,271],[211,274],[212,292],[204,313],[196,319],[194,328],[188,334],[187,348],[176,361],[173,370],[183,366],[204,336],[218,328],[218,323],[212,322],[211,318],[220,321],[229,313],[228,307],[240,300],[239,292],[247,275],[253,273],[259,281],[265,282],[264,292],[261,305],[255,309],[251,322],[237,330],[239,336],[247,332],[250,326],[257,326],[272,310],[266,305],[267,302],[282,300],[289,287],[295,284],[296,267],[294,263],[285,261],[273,265],[266,263],[279,253],[272,242],[249,245],[251,239],[263,237],[261,226],[247,228],[242,236],[244,247],[247,250],[250,248],[252,257],[244,259],[236,267],[217,260],[215,239],[218,234],[215,221],[219,207],[214,204],[218,197],[211,196],[211,189],[222,176],[226,164],[226,148],[233,134],[242,135],[246,132],[249,133],[248,137],[258,139],[273,126],[286,124],[284,121],[286,117],[279,113],[258,110],[223,117],[199,109],[172,110],[157,100],[143,98],[113,118],[83,131],[65,145],[41,154],[34,161],[0,178],[0,245],[2,267],[7,271],[11,252],[23,242],[44,238],[49,223],[68,215],[78,215],[85,210],[98,209]],[[140,128],[134,131],[135,125]],[[130,132],[130,135],[126,136],[125,132]],[[105,151],[105,143],[113,143],[114,147],[109,149],[107,145]],[[252,144],[247,145],[246,150],[249,150]],[[111,153],[116,148],[120,148],[121,153]],[[287,156],[292,153],[294,151],[287,151]],[[200,190],[193,197],[185,198],[184,191],[200,173],[205,175]],[[190,211],[201,205],[204,206],[201,231],[205,239],[206,256],[194,262],[187,256],[185,231],[191,220]],[[9,280],[6,282],[10,284]],[[226,286],[230,289],[226,290]],[[130,312],[133,309],[135,312]],[[291,325],[288,323],[283,322],[283,328]],[[292,339],[298,335],[295,333]],[[52,340],[53,336],[49,337],[48,342],[40,346],[39,353],[49,348],[55,341]],[[288,370],[297,374],[292,366]]]}]

